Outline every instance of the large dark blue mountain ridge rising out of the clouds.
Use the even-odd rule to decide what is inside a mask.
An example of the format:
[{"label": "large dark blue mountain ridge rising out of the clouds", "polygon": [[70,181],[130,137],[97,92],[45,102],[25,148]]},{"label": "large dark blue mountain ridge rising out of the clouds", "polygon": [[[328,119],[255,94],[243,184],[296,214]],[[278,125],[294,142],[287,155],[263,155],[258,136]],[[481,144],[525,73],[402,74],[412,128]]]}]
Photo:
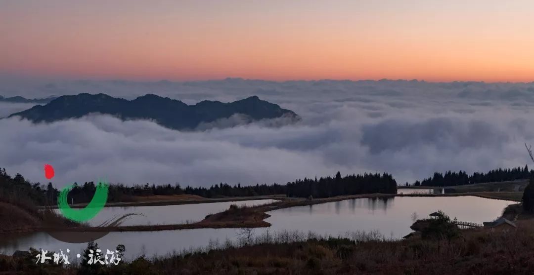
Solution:
[{"label": "large dark blue mountain ridge rising out of the clouds", "polygon": [[182,101],[154,94],[139,96],[130,101],[102,93],[59,96],[44,106],[34,106],[9,117],[20,116],[33,122],[54,122],[80,118],[90,113],[112,115],[124,120],[151,119],[164,127],[176,130],[193,130],[201,123],[215,122],[217,119],[229,118],[236,114],[244,115],[250,121],[279,117],[299,119],[293,111],[260,100],[257,96],[230,103],[205,100],[190,106]]}]

